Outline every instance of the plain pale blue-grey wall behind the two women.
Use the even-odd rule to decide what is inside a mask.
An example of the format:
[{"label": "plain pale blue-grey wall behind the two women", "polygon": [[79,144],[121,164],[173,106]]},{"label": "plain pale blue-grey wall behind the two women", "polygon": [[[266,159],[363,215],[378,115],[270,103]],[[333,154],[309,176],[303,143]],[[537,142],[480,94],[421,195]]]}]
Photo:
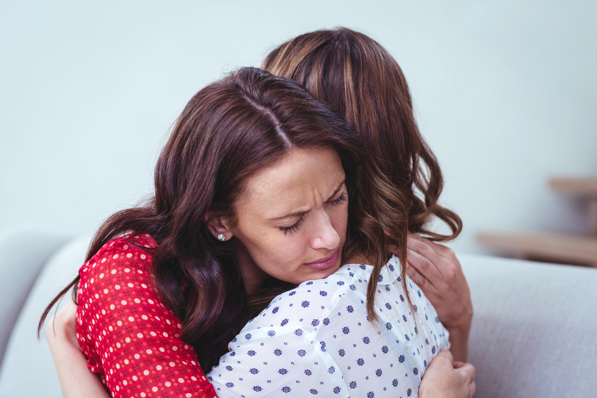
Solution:
[{"label": "plain pale blue-grey wall behind the two women", "polygon": [[[85,4],[82,4],[85,3]],[[0,228],[83,234],[152,188],[170,124],[207,82],[347,26],[404,69],[443,203],[478,229],[587,228],[552,175],[597,174],[597,3],[2,2]]]}]

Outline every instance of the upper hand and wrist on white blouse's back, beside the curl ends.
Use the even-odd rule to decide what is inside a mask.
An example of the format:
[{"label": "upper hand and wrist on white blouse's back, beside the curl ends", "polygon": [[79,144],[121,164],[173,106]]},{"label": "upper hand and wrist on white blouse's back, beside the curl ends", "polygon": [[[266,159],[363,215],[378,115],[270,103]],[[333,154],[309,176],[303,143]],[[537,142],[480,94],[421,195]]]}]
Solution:
[{"label": "upper hand and wrist on white blouse's back, beside the curl ends", "polygon": [[[390,252],[398,254],[396,247]],[[454,359],[466,362],[473,305],[469,285],[454,252],[418,235],[409,235],[407,244],[408,276],[423,290],[450,332],[450,351]]]}]

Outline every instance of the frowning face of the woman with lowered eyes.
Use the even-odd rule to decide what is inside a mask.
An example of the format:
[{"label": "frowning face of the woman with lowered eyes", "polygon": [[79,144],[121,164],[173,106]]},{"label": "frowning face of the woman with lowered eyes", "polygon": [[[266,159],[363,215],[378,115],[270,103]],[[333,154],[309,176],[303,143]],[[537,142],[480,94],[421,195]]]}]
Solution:
[{"label": "frowning face of the woman with lowered eyes", "polygon": [[294,149],[252,176],[230,232],[264,272],[302,283],[340,268],[348,194],[332,149]]}]

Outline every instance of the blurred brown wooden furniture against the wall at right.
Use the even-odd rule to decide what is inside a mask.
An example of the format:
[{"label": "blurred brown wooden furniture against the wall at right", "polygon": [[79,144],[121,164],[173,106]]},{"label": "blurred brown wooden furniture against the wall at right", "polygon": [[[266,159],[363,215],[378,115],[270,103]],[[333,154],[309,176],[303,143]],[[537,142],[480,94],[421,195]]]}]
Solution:
[{"label": "blurred brown wooden furniture against the wall at right", "polygon": [[589,201],[590,236],[541,233],[481,232],[484,246],[521,259],[597,267],[597,178],[554,178],[553,191],[565,192]]}]

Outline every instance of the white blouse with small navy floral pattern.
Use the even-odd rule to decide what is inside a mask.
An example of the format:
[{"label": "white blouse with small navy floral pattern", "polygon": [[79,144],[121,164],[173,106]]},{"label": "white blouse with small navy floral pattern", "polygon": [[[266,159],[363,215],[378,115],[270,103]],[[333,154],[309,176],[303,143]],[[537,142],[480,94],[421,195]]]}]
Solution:
[{"label": "white blouse with small navy floral pattern", "polygon": [[450,342],[407,277],[411,313],[399,267],[393,256],[381,269],[375,324],[365,307],[370,265],[343,265],[277,296],[208,373],[218,397],[416,397],[430,360]]}]

